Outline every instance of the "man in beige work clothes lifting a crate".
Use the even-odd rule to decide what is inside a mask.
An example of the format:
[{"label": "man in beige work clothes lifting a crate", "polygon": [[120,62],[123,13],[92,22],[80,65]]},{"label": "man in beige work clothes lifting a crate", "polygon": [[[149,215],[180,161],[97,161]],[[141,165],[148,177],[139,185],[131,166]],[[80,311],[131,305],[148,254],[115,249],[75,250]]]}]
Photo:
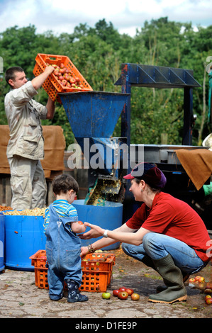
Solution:
[{"label": "man in beige work clothes lifting a crate", "polygon": [[45,79],[54,71],[48,66],[32,81],[21,67],[6,70],[5,79],[11,91],[4,106],[9,123],[10,140],[6,150],[11,169],[13,209],[43,208],[47,193],[45,175],[40,163],[44,158],[44,139],[40,119],[52,119],[55,102],[48,98],[43,106],[33,100]]}]

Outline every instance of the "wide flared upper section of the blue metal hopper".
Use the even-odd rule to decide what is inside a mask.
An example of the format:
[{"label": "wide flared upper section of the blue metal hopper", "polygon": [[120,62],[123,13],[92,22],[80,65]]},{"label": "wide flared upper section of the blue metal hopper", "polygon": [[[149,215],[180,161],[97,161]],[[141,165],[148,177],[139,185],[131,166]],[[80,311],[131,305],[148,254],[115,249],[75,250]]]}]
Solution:
[{"label": "wide flared upper section of the blue metal hopper", "polygon": [[74,137],[111,137],[129,94],[105,91],[62,93]]}]

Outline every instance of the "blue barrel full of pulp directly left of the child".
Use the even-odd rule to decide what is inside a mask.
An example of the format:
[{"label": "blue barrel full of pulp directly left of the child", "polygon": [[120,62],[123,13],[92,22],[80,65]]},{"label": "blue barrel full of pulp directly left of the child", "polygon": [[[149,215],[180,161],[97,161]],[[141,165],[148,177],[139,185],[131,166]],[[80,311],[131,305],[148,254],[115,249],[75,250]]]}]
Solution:
[{"label": "blue barrel full of pulp directly left of the child", "polygon": [[45,249],[43,216],[5,215],[4,264],[18,271],[34,271],[30,256]]}]

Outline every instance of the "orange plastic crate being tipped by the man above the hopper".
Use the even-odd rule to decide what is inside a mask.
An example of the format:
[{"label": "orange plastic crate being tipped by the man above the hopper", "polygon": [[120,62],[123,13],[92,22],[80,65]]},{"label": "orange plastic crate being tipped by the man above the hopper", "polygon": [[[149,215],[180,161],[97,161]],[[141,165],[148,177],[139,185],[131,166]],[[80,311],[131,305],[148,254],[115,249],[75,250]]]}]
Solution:
[{"label": "orange plastic crate being tipped by the man above the hopper", "polygon": [[35,77],[38,77],[41,73],[44,72],[45,67],[47,67],[46,62],[49,64],[57,64],[60,66],[61,63],[65,64],[65,67],[69,69],[69,72],[72,73],[72,77],[74,79],[76,77],[79,77],[80,84],[84,86],[82,89],[76,89],[76,88],[69,88],[66,86],[62,86],[60,83],[60,80],[57,79],[57,77],[54,74],[50,74],[48,79],[45,80],[43,84],[43,89],[48,93],[52,101],[57,100],[61,103],[60,97],[57,96],[57,93],[61,92],[72,92],[72,91],[92,91],[93,89],[89,85],[89,83],[84,79],[82,74],[79,72],[77,67],[74,66],[74,64],[69,60],[69,57],[66,57],[65,55],[45,55],[43,53],[38,53],[38,55],[35,57],[35,67],[33,69],[33,74]]}]

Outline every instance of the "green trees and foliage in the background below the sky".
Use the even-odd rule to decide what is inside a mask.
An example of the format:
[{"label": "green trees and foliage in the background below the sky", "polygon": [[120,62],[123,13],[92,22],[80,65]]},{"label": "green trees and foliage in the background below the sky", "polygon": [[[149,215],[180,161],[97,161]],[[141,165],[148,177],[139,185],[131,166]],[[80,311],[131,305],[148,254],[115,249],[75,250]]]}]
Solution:
[{"label": "green trees and foliage in the background below the sky", "polygon": [[[0,34],[0,56],[4,60],[4,72],[8,67],[21,66],[28,79],[33,79],[33,67],[38,53],[67,55],[95,91],[121,92],[114,86],[121,75],[121,64],[138,63],[156,66],[179,67],[194,70],[194,78],[205,85],[208,104],[208,77],[206,58],[212,55],[212,26],[192,29],[191,23],[169,21],[167,17],[145,22],[134,38],[121,35],[111,22],[105,19],[94,28],[80,23],[74,33],[55,36],[51,31],[37,34],[35,26],[6,29]],[[1,75],[1,74],[0,74]],[[6,124],[4,96],[9,91],[4,77],[0,77],[0,124]],[[197,115],[193,143],[201,144],[201,137],[211,131],[204,110],[203,88],[194,89],[193,108]],[[35,99],[45,104],[48,95],[43,89]],[[160,144],[162,134],[167,143],[182,143],[183,89],[131,89],[131,143]],[[56,104],[53,120],[43,120],[43,125],[61,125],[67,147],[74,142],[71,125],[63,106]],[[119,118],[113,135],[121,135]]]}]

